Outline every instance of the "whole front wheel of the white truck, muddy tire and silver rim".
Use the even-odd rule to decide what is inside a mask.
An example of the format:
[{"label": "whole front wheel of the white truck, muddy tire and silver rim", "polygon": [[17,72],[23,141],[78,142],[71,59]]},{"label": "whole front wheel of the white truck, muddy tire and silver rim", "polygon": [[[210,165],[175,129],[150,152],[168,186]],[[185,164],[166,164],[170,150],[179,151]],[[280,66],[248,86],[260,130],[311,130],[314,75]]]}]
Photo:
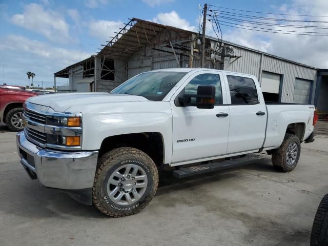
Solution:
[{"label": "whole front wheel of the white truck, muddy tire and silver rim", "polygon": [[97,166],[92,200],[104,214],[111,217],[136,214],[154,197],[158,172],[146,153],[117,148],[99,158]]}]

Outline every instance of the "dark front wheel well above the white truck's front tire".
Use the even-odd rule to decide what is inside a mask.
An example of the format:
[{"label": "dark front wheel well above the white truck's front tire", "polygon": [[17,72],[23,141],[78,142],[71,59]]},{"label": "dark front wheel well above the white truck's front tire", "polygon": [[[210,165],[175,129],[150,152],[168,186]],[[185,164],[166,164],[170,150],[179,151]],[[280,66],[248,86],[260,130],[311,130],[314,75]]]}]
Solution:
[{"label": "dark front wheel well above the white truck's front tire", "polygon": [[101,143],[99,156],[119,147],[132,147],[145,152],[156,166],[164,160],[164,142],[159,132],[142,132],[110,136]]}]

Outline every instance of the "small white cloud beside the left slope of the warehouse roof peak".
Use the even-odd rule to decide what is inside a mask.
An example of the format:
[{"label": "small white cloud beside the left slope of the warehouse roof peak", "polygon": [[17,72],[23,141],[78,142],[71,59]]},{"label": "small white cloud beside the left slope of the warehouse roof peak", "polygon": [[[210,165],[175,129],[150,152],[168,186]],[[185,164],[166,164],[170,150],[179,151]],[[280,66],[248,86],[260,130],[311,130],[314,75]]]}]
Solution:
[{"label": "small white cloud beside the left slope of the warehouse roof peak", "polygon": [[110,36],[116,35],[120,27],[124,24],[120,21],[94,20],[90,23],[90,35],[99,38],[101,41],[108,40]]}]

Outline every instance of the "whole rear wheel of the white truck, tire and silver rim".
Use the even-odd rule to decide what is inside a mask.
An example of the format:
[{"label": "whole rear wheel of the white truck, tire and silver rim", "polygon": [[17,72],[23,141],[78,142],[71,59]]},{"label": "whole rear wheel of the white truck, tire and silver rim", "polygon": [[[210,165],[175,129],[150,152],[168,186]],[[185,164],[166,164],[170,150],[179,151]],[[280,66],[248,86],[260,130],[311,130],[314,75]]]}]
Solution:
[{"label": "whole rear wheel of the white truck, tire and silver rim", "polygon": [[286,133],[281,146],[272,153],[273,167],[281,172],[295,169],[301,154],[301,143],[294,134]]}]

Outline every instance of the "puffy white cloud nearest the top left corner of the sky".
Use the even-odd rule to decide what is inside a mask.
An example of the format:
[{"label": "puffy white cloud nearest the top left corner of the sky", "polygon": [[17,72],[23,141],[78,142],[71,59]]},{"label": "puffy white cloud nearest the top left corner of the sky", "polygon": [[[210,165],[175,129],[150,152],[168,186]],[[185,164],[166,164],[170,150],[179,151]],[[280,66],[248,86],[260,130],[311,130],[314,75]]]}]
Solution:
[{"label": "puffy white cloud nearest the top left corner of the sky", "polygon": [[69,25],[65,18],[55,11],[45,10],[38,4],[25,5],[24,12],[13,15],[11,22],[27,30],[40,33],[49,40],[64,43],[70,39]]}]

